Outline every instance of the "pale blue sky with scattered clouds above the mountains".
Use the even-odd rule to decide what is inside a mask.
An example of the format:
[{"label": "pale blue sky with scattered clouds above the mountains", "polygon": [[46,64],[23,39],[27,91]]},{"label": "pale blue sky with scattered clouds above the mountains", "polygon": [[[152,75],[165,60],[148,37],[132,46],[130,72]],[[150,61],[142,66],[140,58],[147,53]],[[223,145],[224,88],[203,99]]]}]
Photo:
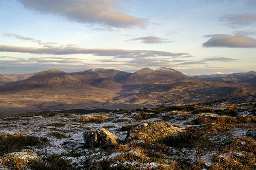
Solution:
[{"label": "pale blue sky with scattered clouds above the mountains", "polygon": [[0,73],[256,71],[255,31],[255,0],[0,0]]}]

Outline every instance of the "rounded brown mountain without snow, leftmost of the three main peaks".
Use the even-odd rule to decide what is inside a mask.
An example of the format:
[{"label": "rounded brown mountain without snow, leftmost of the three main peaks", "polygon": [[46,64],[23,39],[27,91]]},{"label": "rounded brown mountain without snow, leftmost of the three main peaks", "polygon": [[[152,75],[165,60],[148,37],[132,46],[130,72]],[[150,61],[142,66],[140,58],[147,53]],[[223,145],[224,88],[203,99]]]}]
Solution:
[{"label": "rounded brown mountain without snow, leftmost of the three main peaks", "polygon": [[78,87],[82,85],[82,81],[69,73],[50,69],[27,78],[26,80],[2,85],[1,90],[22,90],[34,88],[51,88],[51,87]]}]

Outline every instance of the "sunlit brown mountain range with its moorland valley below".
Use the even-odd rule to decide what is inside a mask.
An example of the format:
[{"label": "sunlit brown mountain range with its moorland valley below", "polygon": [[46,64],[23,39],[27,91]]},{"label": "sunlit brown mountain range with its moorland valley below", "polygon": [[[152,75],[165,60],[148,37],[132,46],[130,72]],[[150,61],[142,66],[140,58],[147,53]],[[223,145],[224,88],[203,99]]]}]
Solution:
[{"label": "sunlit brown mountain range with its moorland valley below", "polygon": [[7,102],[11,98],[19,107],[29,105],[29,111],[34,107],[38,111],[89,106],[150,107],[256,94],[254,71],[190,77],[169,67],[143,68],[134,73],[94,68],[72,73],[50,69],[15,75],[0,77],[1,82],[7,82],[0,86],[2,110],[13,107]]}]

